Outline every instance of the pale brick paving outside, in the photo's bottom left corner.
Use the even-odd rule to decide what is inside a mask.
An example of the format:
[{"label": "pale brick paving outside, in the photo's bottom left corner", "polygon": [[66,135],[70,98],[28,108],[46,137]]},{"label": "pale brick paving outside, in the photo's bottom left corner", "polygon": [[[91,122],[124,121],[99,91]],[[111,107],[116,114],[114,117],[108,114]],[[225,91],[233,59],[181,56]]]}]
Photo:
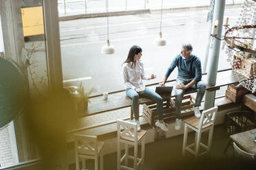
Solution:
[{"label": "pale brick paving outside, in the photo's bottom left corner", "polygon": [[1,167],[14,165],[8,126],[0,130],[0,165]]}]

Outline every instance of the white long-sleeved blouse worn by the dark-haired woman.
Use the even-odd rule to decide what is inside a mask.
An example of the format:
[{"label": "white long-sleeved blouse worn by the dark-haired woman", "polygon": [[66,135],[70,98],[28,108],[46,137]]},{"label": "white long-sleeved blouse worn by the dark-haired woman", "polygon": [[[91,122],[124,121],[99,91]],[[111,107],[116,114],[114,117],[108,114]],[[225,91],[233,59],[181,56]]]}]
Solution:
[{"label": "white long-sleeved blouse worn by the dark-haired woman", "polygon": [[142,80],[150,80],[151,78],[145,75],[144,66],[141,61],[136,60],[136,64],[125,62],[122,64],[122,75],[124,78],[125,88],[145,88]]}]

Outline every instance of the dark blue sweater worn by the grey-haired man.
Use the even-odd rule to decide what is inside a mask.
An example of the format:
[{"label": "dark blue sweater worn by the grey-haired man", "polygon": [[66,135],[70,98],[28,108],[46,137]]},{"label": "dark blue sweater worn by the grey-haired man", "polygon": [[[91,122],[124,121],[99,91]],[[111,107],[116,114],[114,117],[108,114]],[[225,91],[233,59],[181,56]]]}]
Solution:
[{"label": "dark blue sweater worn by the grey-haired man", "polygon": [[186,60],[178,54],[167,69],[165,77],[169,77],[173,69],[175,69],[175,66],[178,67],[178,77],[193,79],[195,82],[199,82],[202,78],[201,61],[197,56],[191,55],[191,57]]}]

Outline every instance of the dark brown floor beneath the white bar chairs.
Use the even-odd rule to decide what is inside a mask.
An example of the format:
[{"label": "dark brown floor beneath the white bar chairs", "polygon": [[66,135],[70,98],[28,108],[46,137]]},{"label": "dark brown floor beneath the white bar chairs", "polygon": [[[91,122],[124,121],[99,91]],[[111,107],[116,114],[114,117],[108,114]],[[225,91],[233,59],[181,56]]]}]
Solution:
[{"label": "dark brown floor beneath the white bar chairs", "polygon": [[[193,142],[194,133],[189,133],[188,143]],[[202,140],[206,141],[207,134],[203,134]],[[228,148],[224,154],[224,148],[228,143],[229,136],[226,133],[225,126],[217,125],[214,127],[213,145],[209,154],[195,160],[192,154],[187,153],[182,158],[183,135],[172,138],[160,138],[159,141],[149,143],[145,148],[145,165],[140,169],[242,169],[239,162],[233,158],[232,147]],[[130,153],[132,150],[130,149]],[[116,153],[104,156],[104,169],[116,169]],[[131,163],[131,162],[130,162]],[[238,165],[237,165],[238,164]],[[87,169],[94,169],[94,162],[87,160]],[[246,163],[243,169],[253,169],[254,165]],[[229,167],[229,168],[228,168]],[[75,170],[75,165],[70,165],[70,170]]]}]

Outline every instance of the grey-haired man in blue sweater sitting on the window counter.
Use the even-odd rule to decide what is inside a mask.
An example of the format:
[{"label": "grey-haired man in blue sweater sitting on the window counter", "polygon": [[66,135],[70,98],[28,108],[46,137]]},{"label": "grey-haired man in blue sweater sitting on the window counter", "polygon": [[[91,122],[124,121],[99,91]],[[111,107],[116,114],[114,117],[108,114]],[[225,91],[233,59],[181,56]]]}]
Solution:
[{"label": "grey-haired man in blue sweater sitting on the window counter", "polygon": [[174,58],[171,62],[171,66],[167,69],[165,73],[164,80],[160,83],[160,86],[164,86],[167,82],[167,78],[175,69],[175,66],[178,67],[178,77],[176,79],[175,86],[175,130],[180,130],[181,125],[181,106],[182,106],[182,97],[188,88],[193,90],[198,90],[195,106],[193,107],[195,117],[200,118],[201,113],[199,106],[201,105],[202,98],[204,97],[204,92],[206,84],[201,80],[202,78],[202,67],[200,59],[191,54],[193,47],[191,44],[182,45],[182,51],[178,56]]}]

